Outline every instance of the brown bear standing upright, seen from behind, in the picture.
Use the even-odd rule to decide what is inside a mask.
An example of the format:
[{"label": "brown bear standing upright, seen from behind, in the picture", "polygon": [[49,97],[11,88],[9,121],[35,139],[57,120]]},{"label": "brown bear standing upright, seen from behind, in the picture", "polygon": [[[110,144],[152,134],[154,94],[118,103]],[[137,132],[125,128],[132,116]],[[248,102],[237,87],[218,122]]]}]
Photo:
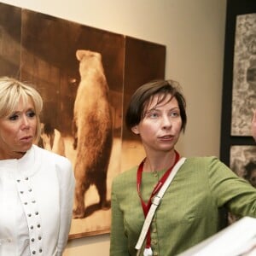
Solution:
[{"label": "brown bear standing upright, seen from behind, in the picture", "polygon": [[76,56],[81,79],[73,108],[73,146],[77,150],[73,218],[84,218],[84,194],[90,185],[96,185],[100,207],[108,207],[107,172],[113,129],[102,55],[78,49]]}]

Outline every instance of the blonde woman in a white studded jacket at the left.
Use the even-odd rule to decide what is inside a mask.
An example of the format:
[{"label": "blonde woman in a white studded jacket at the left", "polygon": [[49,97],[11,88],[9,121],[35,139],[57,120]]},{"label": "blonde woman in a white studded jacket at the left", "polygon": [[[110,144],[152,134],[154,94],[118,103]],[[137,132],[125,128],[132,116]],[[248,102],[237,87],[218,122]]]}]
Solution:
[{"label": "blonde woman in a white studded jacket at the left", "polygon": [[34,144],[42,108],[37,90],[0,78],[0,255],[61,256],[67,244],[73,169]]}]

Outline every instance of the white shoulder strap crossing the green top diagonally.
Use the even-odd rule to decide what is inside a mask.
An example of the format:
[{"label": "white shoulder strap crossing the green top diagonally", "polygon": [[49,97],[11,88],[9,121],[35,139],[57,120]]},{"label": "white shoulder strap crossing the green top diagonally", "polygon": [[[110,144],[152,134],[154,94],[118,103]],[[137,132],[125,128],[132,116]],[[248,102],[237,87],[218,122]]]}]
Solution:
[{"label": "white shoulder strap crossing the green top diagonally", "polygon": [[160,205],[161,198],[163,197],[163,195],[166,192],[166,189],[168,188],[168,186],[172,182],[173,177],[176,175],[178,169],[180,168],[180,166],[183,165],[185,160],[186,160],[186,158],[183,157],[183,158],[181,158],[180,160],[177,161],[177,164],[173,167],[172,172],[167,177],[166,182],[160,188],[157,195],[155,195],[154,198],[152,199],[152,205],[149,208],[147,217],[146,217],[146,219],[144,221],[144,224],[143,224],[143,229],[141,231],[141,235],[139,236],[139,239],[137,241],[137,245],[135,247],[137,250],[140,250],[140,248],[143,246],[143,241],[145,240],[145,237],[148,233],[148,229],[150,227],[152,218],[154,216],[154,212],[155,212],[156,208]]}]

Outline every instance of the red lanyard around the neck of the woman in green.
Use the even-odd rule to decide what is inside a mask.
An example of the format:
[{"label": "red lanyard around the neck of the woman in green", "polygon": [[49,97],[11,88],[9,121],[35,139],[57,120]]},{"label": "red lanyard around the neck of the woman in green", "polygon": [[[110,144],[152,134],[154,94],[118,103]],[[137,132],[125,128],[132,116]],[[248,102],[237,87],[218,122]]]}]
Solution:
[{"label": "red lanyard around the neck of the woman in green", "polygon": [[[141,199],[141,203],[142,203],[142,207],[143,207],[143,212],[144,212],[144,216],[146,218],[149,208],[151,207],[152,204],[152,198],[154,197],[154,195],[156,195],[156,193],[160,190],[160,188],[162,187],[162,185],[166,182],[167,177],[169,176],[169,174],[172,172],[172,168],[173,166],[176,165],[177,161],[179,160],[179,154],[177,153],[177,151],[175,151],[175,161],[174,164],[165,172],[165,174],[160,178],[160,181],[154,186],[154,189],[152,191],[152,194],[148,200],[148,204],[146,205],[145,202],[143,201],[143,197],[141,195],[141,183],[142,183],[142,177],[143,177],[143,165],[144,165],[144,160],[141,162],[141,164],[138,166],[137,168],[137,194],[139,195],[140,199]],[[146,244],[146,248],[149,248],[151,244],[151,236],[150,236],[150,229],[148,229],[148,233],[147,233],[147,244]]]}]

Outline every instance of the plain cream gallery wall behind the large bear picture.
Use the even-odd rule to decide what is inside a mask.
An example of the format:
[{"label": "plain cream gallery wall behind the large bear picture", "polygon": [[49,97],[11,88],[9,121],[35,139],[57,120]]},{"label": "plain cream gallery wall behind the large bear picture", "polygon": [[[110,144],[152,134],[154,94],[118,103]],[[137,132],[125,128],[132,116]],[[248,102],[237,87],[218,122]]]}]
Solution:
[{"label": "plain cream gallery wall behind the large bear picture", "polygon": [[[21,8],[166,45],[166,79],[183,87],[185,156],[219,156],[226,0],[5,0]],[[11,19],[11,17],[10,17]],[[68,242],[64,256],[107,256],[109,235]]]}]

